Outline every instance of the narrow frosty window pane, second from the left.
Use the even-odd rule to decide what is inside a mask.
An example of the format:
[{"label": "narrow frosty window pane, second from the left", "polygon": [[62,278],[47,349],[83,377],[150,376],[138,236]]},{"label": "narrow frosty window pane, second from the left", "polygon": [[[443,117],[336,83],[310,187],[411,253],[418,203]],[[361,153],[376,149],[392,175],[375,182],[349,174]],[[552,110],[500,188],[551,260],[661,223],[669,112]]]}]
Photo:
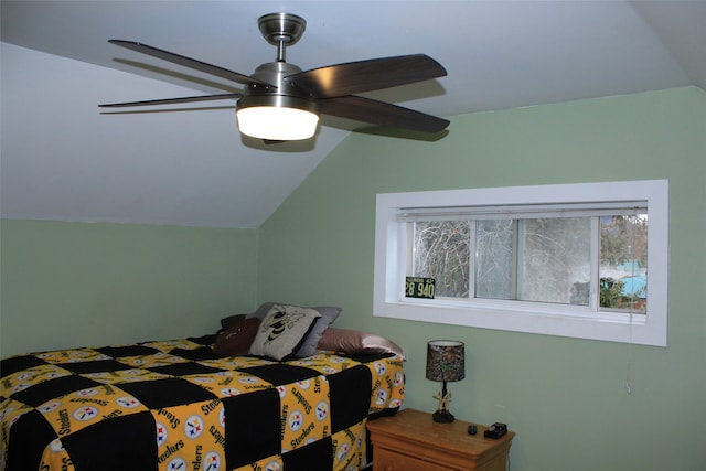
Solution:
[{"label": "narrow frosty window pane, second from the left", "polygon": [[477,298],[515,299],[516,227],[513,220],[477,222]]}]

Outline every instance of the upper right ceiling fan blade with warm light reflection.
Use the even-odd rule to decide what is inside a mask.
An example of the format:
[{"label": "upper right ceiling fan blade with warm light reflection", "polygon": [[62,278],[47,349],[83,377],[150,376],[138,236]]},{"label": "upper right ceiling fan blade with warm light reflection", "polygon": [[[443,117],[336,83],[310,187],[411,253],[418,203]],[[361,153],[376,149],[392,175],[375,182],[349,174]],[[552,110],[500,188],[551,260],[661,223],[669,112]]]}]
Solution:
[{"label": "upper right ceiling fan blade with warm light reflection", "polygon": [[447,75],[446,68],[425,54],[349,62],[286,77],[317,98],[355,95]]}]

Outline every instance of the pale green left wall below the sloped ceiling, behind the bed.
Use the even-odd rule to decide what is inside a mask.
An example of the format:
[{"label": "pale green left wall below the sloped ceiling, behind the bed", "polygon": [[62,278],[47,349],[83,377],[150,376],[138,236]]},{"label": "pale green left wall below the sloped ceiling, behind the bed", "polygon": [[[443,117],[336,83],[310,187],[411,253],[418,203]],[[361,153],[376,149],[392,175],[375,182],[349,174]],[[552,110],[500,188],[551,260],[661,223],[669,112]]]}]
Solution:
[{"label": "pale green left wall below the sloped ceiling, behind the bed", "polygon": [[0,353],[215,333],[253,309],[257,231],[2,220]]}]

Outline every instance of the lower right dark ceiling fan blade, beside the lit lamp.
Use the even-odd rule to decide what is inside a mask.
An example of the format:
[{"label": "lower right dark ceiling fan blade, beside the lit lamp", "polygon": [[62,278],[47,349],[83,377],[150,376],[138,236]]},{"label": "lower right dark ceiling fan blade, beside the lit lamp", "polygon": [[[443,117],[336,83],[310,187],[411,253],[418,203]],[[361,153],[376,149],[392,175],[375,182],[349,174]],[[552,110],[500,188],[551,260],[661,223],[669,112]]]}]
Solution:
[{"label": "lower right dark ceiling fan blade, beside the lit lamp", "polygon": [[378,126],[424,132],[439,132],[449,126],[447,119],[360,96],[328,98],[319,104],[323,114]]}]

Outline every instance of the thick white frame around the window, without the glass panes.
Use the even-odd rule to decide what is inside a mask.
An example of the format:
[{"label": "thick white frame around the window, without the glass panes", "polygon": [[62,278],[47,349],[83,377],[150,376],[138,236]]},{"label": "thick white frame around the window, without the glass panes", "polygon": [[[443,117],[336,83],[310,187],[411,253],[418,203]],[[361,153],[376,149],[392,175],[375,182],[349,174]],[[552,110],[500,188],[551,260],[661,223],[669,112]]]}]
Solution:
[{"label": "thick white frame around the window, without the glass panes", "polygon": [[[472,303],[404,297],[406,208],[644,201],[649,243],[648,314],[586,312],[571,307],[475,299]],[[668,181],[576,183],[378,194],[373,315],[483,329],[666,346]]]}]

